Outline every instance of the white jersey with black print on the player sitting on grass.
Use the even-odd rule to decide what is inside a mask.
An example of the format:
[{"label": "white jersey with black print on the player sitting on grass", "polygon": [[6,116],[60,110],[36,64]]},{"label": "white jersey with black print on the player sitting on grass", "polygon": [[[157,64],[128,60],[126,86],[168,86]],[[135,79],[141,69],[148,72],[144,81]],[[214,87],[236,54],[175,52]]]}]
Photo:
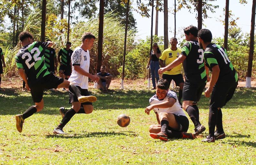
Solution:
[{"label": "white jersey with black print on the player sitting on grass", "polygon": [[168,90],[166,97],[161,100],[159,100],[155,94],[152,98],[149,99],[149,103],[150,103],[150,105],[158,104],[158,103],[162,103],[164,101],[168,101],[169,98],[174,98],[176,100],[176,102],[174,103],[174,105],[172,107],[154,108],[154,112],[157,114],[159,114],[160,112],[165,112],[165,113],[170,113],[170,114],[186,116],[185,113],[183,112],[182,108],[180,107],[176,93],[171,90]]}]

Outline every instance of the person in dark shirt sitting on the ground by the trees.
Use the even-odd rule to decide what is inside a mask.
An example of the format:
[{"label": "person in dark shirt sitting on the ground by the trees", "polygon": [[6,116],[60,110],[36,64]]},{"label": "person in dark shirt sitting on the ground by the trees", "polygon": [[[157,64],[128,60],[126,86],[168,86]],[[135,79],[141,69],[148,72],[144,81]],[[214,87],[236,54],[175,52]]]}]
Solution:
[{"label": "person in dark shirt sitting on the ground by the trees", "polygon": [[100,73],[97,73],[97,76],[100,77],[97,88],[107,92],[113,76],[106,72],[106,66],[104,65],[100,67]]}]

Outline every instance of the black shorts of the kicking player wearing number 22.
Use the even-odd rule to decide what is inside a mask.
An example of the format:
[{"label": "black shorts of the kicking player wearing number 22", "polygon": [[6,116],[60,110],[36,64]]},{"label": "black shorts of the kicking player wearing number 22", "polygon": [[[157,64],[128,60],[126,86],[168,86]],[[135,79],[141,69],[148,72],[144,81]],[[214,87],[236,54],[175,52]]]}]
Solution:
[{"label": "black shorts of the kicking player wearing number 22", "polygon": [[53,75],[52,73],[44,76],[38,83],[28,82],[28,86],[31,90],[31,96],[34,103],[41,102],[45,89],[56,89],[58,85],[63,83],[64,79]]}]

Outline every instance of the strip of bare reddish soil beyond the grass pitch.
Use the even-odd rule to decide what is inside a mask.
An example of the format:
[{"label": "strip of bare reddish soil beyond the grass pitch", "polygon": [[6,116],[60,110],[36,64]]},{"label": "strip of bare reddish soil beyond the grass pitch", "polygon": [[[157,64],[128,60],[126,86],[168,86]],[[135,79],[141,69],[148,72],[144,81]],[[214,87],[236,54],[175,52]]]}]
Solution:
[{"label": "strip of bare reddish soil beyond the grass pitch", "polygon": [[[151,87],[152,87],[152,82]],[[208,86],[209,83],[206,84]],[[251,82],[252,87],[256,87],[256,79]],[[148,86],[147,79],[125,79],[124,80],[124,88],[125,89],[136,89],[136,88],[145,88]],[[172,86],[172,85],[171,85]],[[238,82],[238,87],[245,87],[245,81]],[[18,88],[22,89],[22,79],[20,77],[12,77],[9,79],[3,78],[1,83],[1,88]],[[89,88],[93,88],[93,83],[89,83]],[[121,88],[121,79],[113,79],[110,84],[110,89],[120,89]]]}]

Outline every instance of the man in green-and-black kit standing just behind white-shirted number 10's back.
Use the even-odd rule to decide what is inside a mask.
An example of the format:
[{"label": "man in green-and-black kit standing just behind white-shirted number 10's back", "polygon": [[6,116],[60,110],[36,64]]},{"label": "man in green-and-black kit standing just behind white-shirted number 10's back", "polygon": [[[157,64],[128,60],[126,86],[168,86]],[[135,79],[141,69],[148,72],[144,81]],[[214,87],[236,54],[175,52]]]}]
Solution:
[{"label": "man in green-and-black kit standing just behind white-shirted number 10's back", "polygon": [[[60,63],[59,76],[68,80],[71,75],[71,55],[73,50],[70,49],[71,42],[66,43],[66,48],[63,48],[58,53],[58,61]],[[61,60],[60,60],[61,56]],[[63,88],[65,90],[65,88]]]}]

